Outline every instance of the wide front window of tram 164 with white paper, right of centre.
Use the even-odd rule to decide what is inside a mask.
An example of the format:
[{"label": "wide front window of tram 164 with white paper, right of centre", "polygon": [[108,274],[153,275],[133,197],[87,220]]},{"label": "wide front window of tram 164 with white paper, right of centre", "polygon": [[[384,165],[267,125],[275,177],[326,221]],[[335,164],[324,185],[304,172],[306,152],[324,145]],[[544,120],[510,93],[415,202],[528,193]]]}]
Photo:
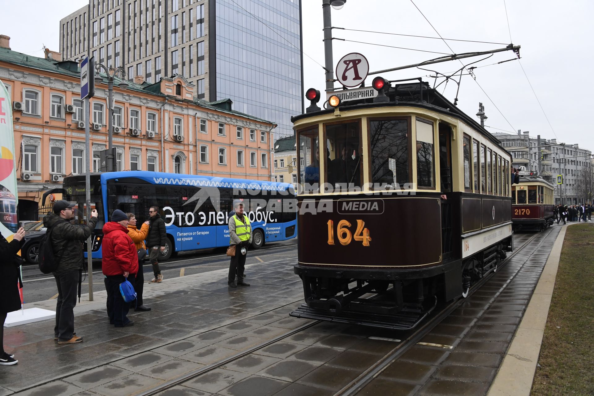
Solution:
[{"label": "wide front window of tram 164 with white paper, right of centre", "polygon": [[[408,119],[369,121],[369,150],[371,152],[371,182],[386,188],[410,182]],[[390,168],[395,161],[395,169]]]}]

